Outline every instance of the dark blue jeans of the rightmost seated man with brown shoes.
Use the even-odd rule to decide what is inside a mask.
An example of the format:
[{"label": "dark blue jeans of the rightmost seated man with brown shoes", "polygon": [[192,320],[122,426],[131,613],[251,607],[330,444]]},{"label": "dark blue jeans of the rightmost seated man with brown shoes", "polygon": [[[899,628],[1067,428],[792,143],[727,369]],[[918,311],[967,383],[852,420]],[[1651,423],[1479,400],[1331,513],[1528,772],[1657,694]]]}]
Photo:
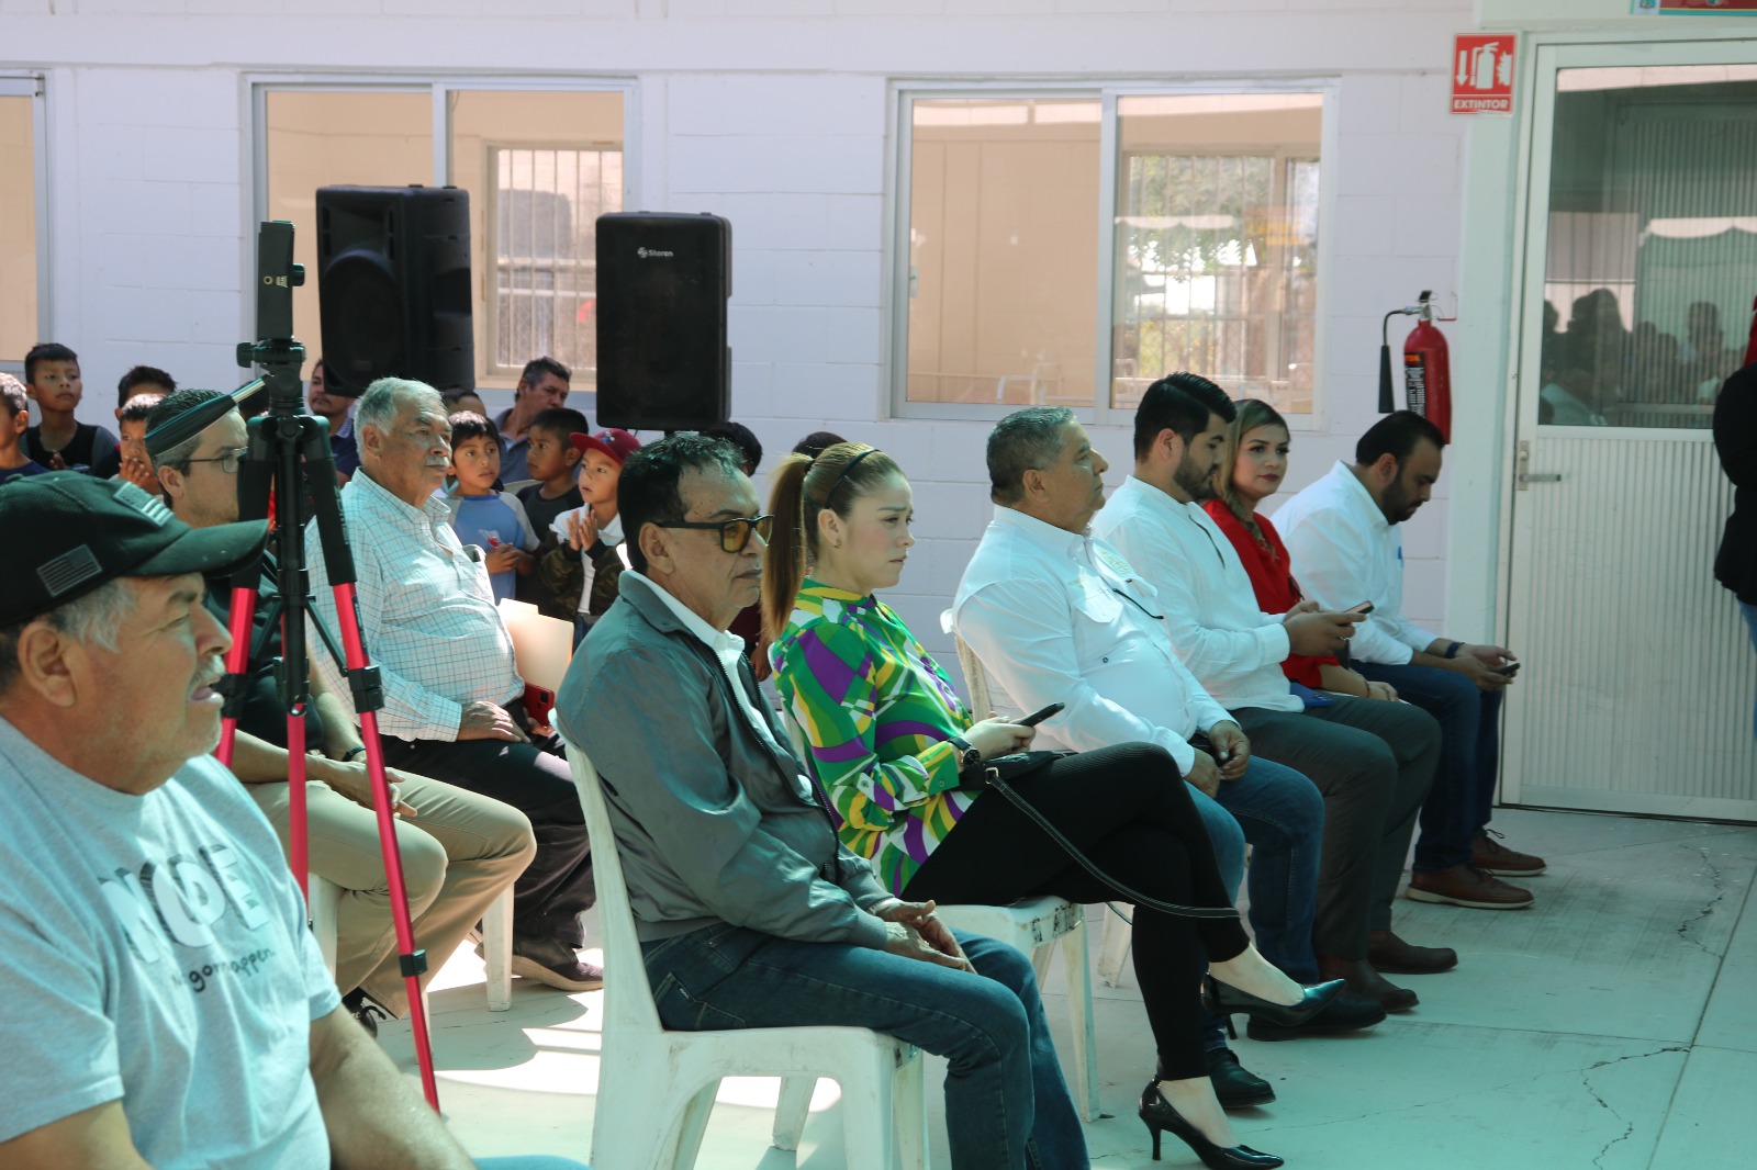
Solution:
[{"label": "dark blue jeans of the rightmost seated man with brown shoes", "polygon": [[1500,771],[1500,692],[1478,690],[1464,675],[1432,666],[1355,662],[1397,697],[1439,720],[1439,768],[1421,805],[1421,836],[1413,873],[1439,873],[1471,859],[1471,845],[1488,827]]}]

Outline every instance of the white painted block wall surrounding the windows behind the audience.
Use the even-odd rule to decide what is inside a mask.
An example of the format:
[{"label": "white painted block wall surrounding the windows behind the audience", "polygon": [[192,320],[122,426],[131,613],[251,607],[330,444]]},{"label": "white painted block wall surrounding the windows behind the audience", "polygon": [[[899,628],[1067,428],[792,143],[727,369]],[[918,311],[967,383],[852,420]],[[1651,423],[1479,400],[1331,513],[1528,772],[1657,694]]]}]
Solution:
[{"label": "white painted block wall surrounding the windows behind the audience", "polygon": [[[1465,126],[1446,70],[1471,25],[1469,0],[0,0],[0,74],[47,76],[49,332],[81,353],[86,416],[104,422],[135,362],[239,379],[246,77],[631,79],[629,206],[734,225],[734,418],[775,453],[828,425],[901,460],[921,546],[893,601],[945,652],[936,615],[989,513],[987,427],[887,418],[891,84],[1337,77],[1321,415],[1295,437],[1298,487],[1376,416],[1379,314],[1420,288],[1457,297]],[[1096,439],[1119,480],[1126,430]],[[1406,532],[1406,597],[1485,638],[1446,620],[1457,483]]]}]

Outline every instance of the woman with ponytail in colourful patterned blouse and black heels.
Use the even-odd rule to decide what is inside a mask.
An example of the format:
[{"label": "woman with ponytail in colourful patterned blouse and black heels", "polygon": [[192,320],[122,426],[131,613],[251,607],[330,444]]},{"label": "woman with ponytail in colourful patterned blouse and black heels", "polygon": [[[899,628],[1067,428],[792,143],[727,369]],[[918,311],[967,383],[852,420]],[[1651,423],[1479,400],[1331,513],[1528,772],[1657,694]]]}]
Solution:
[{"label": "woman with ponytail in colourful patterned blouse and black heels", "polygon": [[[775,682],[849,849],[912,901],[1128,901],[1007,798],[982,789],[982,762],[1028,747],[1033,729],[973,719],[945,671],[873,596],[898,583],[915,543],[898,466],[857,443],[815,460],[792,455],[775,473],[770,511],[763,625]],[[1116,882],[1161,901],[1230,905],[1165,750],[1124,743],[1063,755],[1012,787]],[[1158,1131],[1170,1130],[1211,1166],[1279,1166],[1279,1158],[1235,1145],[1209,1082],[1197,994],[1204,963],[1260,1010],[1304,1017],[1328,1003],[1334,986],[1302,989],[1256,954],[1235,915],[1137,908],[1133,938],[1160,1058],[1140,1110],[1154,1152]]]}]

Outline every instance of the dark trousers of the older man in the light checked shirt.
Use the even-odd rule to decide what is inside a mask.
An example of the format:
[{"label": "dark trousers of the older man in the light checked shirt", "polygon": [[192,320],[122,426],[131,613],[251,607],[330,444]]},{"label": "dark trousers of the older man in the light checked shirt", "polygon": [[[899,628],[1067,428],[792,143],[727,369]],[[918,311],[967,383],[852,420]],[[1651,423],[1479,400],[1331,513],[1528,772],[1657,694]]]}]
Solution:
[{"label": "dark trousers of the older man in the light checked shirt", "polygon": [[[524,708],[508,706],[524,726]],[[592,887],[592,845],[573,771],[559,740],[385,740],[385,762],[460,789],[492,796],[525,813],[538,856],[513,884],[513,931],[585,945],[580,914],[597,901]]]}]

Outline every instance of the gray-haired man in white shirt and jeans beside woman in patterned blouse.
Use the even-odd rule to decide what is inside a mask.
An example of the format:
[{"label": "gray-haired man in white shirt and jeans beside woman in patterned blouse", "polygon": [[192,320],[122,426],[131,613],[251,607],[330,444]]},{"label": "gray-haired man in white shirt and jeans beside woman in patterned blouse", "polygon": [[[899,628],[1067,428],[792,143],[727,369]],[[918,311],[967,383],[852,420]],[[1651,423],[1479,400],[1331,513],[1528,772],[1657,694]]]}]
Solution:
[{"label": "gray-haired man in white shirt and jeans beside woman in patterned blouse", "polygon": [[[1197,789],[1189,796],[1230,887],[1240,878],[1242,850],[1232,847],[1240,827],[1254,847],[1251,926],[1258,950],[1295,980],[1316,982],[1318,791],[1291,768],[1253,757],[1233,717],[1172,650],[1156,590],[1117,550],[1093,539],[1088,525],[1103,504],[1107,464],[1072,411],[1009,415],[989,436],[987,466],[994,520],[965,569],[952,615],[994,682],[1000,713],[1065,703],[1065,711],[1038,727],[1045,747],[1088,752],[1144,741],[1170,752]],[[1191,743],[1204,734],[1205,745]],[[1376,1001],[1344,994],[1298,1035],[1381,1019]],[[1251,1035],[1291,1038],[1256,1021]],[[1226,1049],[1221,1044],[1212,1052]],[[1230,1103],[1233,1094],[1219,1084],[1226,1070],[1211,1072],[1221,1103]]]}]

